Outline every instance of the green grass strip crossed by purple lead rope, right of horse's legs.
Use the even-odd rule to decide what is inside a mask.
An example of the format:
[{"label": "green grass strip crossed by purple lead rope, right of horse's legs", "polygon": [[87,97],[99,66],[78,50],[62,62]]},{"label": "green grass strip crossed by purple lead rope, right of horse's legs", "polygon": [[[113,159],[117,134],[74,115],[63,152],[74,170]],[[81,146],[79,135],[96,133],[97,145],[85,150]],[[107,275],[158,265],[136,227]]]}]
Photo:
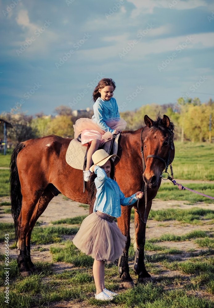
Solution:
[{"label": "green grass strip crossed by purple lead rope, right of horse's legs", "polygon": [[[163,181],[162,181],[163,182]],[[182,184],[180,181],[179,184]],[[214,184],[196,184],[189,183],[183,184],[183,186],[195,190],[199,193],[214,197]],[[195,204],[196,202],[204,201],[206,203],[214,203],[213,199],[208,197],[203,197],[196,193],[190,192],[189,190],[179,190],[177,185],[173,185],[169,180],[165,183],[162,183],[158,193],[155,198],[161,199],[163,201],[167,200],[177,200],[177,201],[188,201],[189,203]]]}]

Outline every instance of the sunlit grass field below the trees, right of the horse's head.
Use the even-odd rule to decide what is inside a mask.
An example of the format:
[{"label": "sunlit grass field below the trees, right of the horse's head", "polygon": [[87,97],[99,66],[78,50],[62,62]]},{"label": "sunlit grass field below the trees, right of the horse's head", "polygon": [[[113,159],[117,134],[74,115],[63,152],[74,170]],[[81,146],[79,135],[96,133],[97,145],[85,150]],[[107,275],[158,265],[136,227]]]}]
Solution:
[{"label": "sunlit grass field below the trees, right of the horse's head", "polygon": [[213,181],[213,153],[213,143],[175,142],[175,159],[172,163],[175,179]]}]

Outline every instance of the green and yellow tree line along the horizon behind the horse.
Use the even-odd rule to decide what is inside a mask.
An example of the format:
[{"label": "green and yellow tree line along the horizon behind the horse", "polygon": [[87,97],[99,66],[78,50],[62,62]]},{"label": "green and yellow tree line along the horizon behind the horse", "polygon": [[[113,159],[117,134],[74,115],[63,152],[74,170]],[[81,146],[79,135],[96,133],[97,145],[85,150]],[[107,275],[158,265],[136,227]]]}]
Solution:
[{"label": "green and yellow tree line along the horizon behind the horse", "polygon": [[[73,138],[73,124],[79,118],[91,118],[93,110],[72,112],[68,106],[59,106],[53,115],[45,115],[43,112],[26,115],[19,110],[11,110],[10,113],[0,114],[0,119],[13,125],[8,128],[8,140],[19,143],[28,139],[57,135],[64,138]],[[158,105],[155,103],[142,105],[135,111],[120,112],[120,116],[126,120],[126,130],[137,130],[143,127],[144,115],[155,120],[158,114],[166,114],[175,125],[175,140],[191,142],[214,142],[214,101],[209,99],[207,103],[201,103],[199,98],[184,101],[182,97],[174,104]],[[211,118],[211,122],[210,122]],[[211,132],[210,132],[211,128]],[[0,138],[3,139],[3,125],[0,124]]]}]

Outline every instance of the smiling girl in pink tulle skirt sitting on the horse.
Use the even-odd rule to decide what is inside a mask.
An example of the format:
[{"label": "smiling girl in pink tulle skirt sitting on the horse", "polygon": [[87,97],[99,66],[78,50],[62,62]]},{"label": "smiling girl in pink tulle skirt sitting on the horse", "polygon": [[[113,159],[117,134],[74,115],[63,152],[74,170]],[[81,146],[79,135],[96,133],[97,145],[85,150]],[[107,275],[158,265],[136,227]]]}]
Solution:
[{"label": "smiling girl in pink tulle skirt sitting on the horse", "polygon": [[94,101],[92,119],[80,118],[74,125],[74,138],[81,133],[81,144],[90,144],[84,171],[86,182],[91,174],[89,168],[93,164],[93,153],[99,146],[111,140],[114,134],[117,135],[126,128],[126,121],[120,119],[117,102],[113,98],[115,88],[115,83],[111,78],[101,79],[92,95]]}]

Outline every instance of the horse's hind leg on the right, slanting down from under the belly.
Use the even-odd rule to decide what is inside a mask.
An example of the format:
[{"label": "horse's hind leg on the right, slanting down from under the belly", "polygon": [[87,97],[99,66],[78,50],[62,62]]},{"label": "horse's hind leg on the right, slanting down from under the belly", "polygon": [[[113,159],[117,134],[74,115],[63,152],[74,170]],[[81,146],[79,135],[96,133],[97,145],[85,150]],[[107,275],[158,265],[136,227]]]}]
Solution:
[{"label": "horse's hind leg on the right, slanting down from under the belly", "polygon": [[39,198],[39,201],[36,204],[36,207],[33,211],[33,214],[32,214],[31,220],[30,220],[30,228],[29,228],[27,235],[26,235],[27,265],[28,265],[31,272],[36,271],[36,268],[35,268],[33,262],[31,261],[31,246],[30,246],[31,233],[32,233],[32,230],[35,226],[36,221],[42,215],[44,210],[47,208],[47,205],[49,204],[51,199],[53,199],[53,197],[56,195],[56,194],[54,194],[53,189],[50,189],[51,188],[51,187],[49,187],[50,185],[51,184],[49,184],[47,186],[47,188],[45,188],[45,190],[42,193],[42,196]]}]

